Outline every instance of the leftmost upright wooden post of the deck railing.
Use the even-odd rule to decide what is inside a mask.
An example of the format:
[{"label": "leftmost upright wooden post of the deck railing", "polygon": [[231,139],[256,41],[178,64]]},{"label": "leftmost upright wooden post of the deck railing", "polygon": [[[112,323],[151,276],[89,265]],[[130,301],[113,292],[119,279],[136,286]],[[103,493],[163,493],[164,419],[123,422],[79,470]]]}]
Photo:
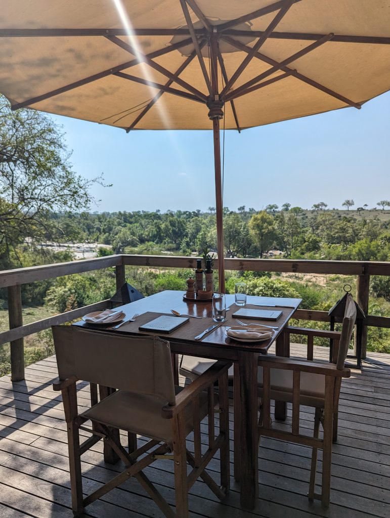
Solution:
[{"label": "leftmost upright wooden post of the deck railing", "polygon": [[[22,291],[20,285],[8,286],[8,320],[9,328],[23,325]],[[11,349],[11,381],[24,380],[24,340],[18,338],[10,342]]]}]

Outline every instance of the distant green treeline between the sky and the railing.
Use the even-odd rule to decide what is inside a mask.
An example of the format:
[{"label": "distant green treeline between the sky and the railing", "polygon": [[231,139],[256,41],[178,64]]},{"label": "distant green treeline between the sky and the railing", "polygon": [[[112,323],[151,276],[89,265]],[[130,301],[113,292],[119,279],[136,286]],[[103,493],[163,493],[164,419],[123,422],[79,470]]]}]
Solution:
[{"label": "distant green treeline between the sky and the railing", "polygon": [[[238,211],[224,208],[225,255],[264,257],[271,250],[291,258],[326,260],[390,260],[390,219],[358,218],[337,210]],[[382,211],[380,211],[382,213]],[[215,209],[208,212],[156,210],[134,212],[56,213],[51,218],[61,229],[56,237],[97,241],[114,253],[156,253],[167,250],[189,255],[215,250]],[[49,236],[48,236],[49,238]],[[51,236],[52,239],[52,236]],[[153,252],[154,251],[154,252]]]}]

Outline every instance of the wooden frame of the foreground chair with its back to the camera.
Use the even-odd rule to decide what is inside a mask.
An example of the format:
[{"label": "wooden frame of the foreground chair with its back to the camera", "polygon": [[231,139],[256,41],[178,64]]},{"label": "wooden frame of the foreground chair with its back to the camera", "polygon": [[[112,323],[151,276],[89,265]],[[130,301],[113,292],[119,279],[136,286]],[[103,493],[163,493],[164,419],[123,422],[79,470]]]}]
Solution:
[{"label": "wooden frame of the foreground chair with its back to the camera", "polygon": [[[113,488],[125,482],[130,477],[135,477],[142,487],[153,498],[157,506],[168,517],[186,518],[189,514],[188,492],[194,482],[200,477],[210,487],[211,491],[223,499],[229,491],[229,406],[228,406],[228,384],[227,371],[231,364],[219,361],[197,380],[185,387],[177,396],[175,405],[162,407],[162,416],[170,419],[172,424],[173,451],[167,443],[158,442],[154,439],[137,448],[135,434],[129,433],[128,451],[123,448],[120,442],[118,428],[112,428],[103,423],[92,421],[92,427],[85,427],[87,421],[79,415],[77,408],[77,387],[79,381],[76,377],[65,380],[58,379],[53,383],[55,391],[61,391],[63,397],[65,419],[67,424],[69,470],[71,485],[72,509],[77,516],[83,509],[93,501],[102,497]],[[219,434],[215,437],[214,426],[214,383],[219,384]],[[100,387],[100,400],[112,393],[114,389]],[[201,392],[208,392],[208,449],[202,455],[200,440],[200,411],[199,397]],[[97,386],[91,383],[91,406],[97,401]],[[192,405],[193,433],[194,433],[194,454],[186,449],[185,444],[185,420],[184,410]],[[79,430],[88,431],[91,437],[80,443]],[[122,473],[115,476],[109,482],[102,485],[98,490],[83,497],[81,455],[88,451],[100,439],[104,440],[104,458],[107,462],[115,462],[118,459],[125,465]],[[220,450],[221,484],[214,482],[206,472],[210,460]],[[139,461],[138,457],[143,456]],[[176,491],[176,513],[164,500],[160,492],[152,485],[149,479],[142,472],[142,469],[150,466],[157,459],[171,459],[174,461],[175,469],[175,491]],[[192,470],[187,474],[187,463]]]}]

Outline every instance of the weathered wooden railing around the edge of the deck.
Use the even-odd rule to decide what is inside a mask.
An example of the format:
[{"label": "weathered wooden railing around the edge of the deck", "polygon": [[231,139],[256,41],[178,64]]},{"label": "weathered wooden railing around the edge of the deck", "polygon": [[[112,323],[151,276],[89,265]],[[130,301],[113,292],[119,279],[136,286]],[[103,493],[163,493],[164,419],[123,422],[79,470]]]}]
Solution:
[{"label": "weathered wooden railing around the edge of the deck", "polygon": [[[11,344],[11,378],[13,381],[24,379],[23,338],[52,325],[62,324],[80,318],[89,311],[97,311],[109,305],[108,300],[90,306],[77,308],[66,313],[23,325],[21,285],[34,281],[53,279],[65,275],[79,274],[103,268],[115,267],[117,289],[125,282],[125,266],[146,266],[163,268],[196,267],[196,257],[161,255],[110,255],[83,261],[59,263],[30,268],[18,268],[0,272],[0,287],[8,289],[9,330],[0,333],[0,345]],[[283,259],[225,259],[226,270],[292,272],[299,274],[356,275],[356,301],[368,313],[369,285],[371,275],[390,276],[390,263],[360,261],[306,261]],[[329,322],[327,311],[298,309],[294,318]],[[390,328],[390,318],[367,315],[364,326],[362,356],[366,356],[367,326]]]}]

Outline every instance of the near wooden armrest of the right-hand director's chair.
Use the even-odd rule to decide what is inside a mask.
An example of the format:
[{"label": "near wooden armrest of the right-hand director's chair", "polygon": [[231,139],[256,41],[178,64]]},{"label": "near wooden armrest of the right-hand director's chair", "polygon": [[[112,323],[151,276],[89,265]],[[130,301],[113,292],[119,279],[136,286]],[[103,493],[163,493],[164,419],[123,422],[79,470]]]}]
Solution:
[{"label": "near wooden armrest of the right-hand director's chair", "polygon": [[257,365],[259,367],[269,367],[271,369],[295,370],[300,372],[312,372],[324,376],[335,376],[349,378],[350,369],[339,370],[333,363],[316,363],[301,361],[294,358],[283,358],[281,356],[259,356]]}]

